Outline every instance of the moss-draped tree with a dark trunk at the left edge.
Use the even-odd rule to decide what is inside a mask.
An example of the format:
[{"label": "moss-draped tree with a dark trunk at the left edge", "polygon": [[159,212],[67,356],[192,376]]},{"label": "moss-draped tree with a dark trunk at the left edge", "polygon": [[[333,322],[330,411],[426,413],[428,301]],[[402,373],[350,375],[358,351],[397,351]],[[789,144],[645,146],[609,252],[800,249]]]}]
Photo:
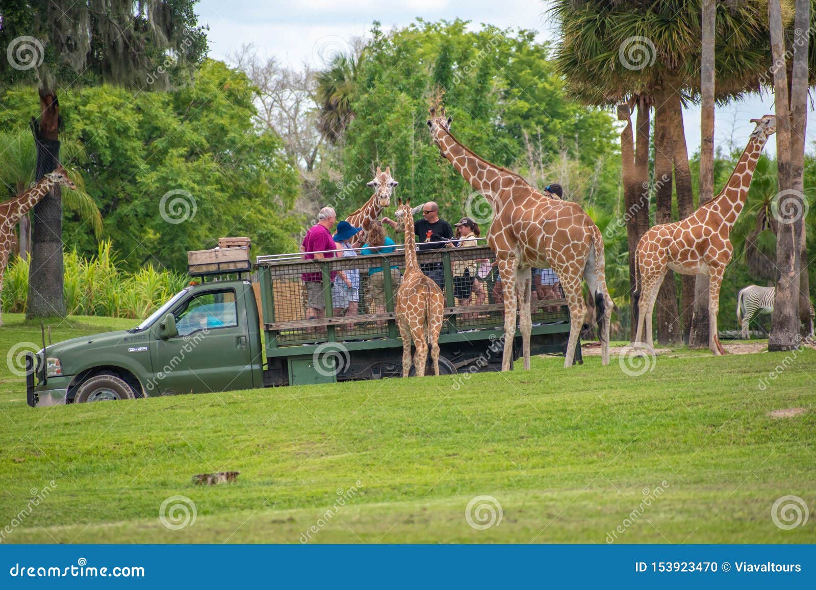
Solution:
[{"label": "moss-draped tree with a dark trunk at the left edge", "polygon": [[[60,161],[57,89],[109,82],[140,90],[185,78],[206,55],[197,0],[6,0],[0,28],[0,85],[35,84],[31,120],[39,180]],[[33,87],[29,88],[33,96]],[[29,99],[30,100],[30,99]],[[64,316],[59,188],[33,211],[28,317]]]}]

